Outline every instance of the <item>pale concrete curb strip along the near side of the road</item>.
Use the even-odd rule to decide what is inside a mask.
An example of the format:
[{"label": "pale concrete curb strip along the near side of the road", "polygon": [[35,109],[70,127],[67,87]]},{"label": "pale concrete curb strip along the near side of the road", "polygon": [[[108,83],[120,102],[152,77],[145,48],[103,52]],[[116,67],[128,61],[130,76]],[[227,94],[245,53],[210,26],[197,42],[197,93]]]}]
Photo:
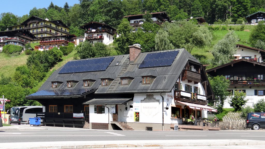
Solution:
[{"label": "pale concrete curb strip along the near side of the road", "polygon": [[[193,142],[191,142],[193,141]],[[99,143],[96,143],[99,142]],[[107,142],[107,143],[103,143]],[[146,143],[135,143],[146,142]],[[161,142],[161,143],[157,143]],[[165,142],[165,143],[162,143]],[[24,146],[19,143],[20,149],[76,149],[76,148],[113,148],[113,147],[174,147],[174,146],[245,146],[245,145],[265,145],[265,141],[254,140],[128,140],[128,141],[70,141],[67,142],[24,142],[27,145]],[[2,149],[17,148],[14,146],[4,147]],[[28,144],[32,144],[29,146]],[[15,144],[14,144],[15,145]]]}]

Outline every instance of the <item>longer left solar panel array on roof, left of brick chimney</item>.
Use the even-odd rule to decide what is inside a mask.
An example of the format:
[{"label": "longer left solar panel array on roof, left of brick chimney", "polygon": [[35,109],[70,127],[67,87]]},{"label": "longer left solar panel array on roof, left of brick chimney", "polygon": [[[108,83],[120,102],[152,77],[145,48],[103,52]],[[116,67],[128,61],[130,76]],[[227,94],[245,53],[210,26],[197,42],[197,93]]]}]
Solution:
[{"label": "longer left solar panel array on roof, left of brick chimney", "polygon": [[59,74],[104,71],[108,68],[109,64],[112,62],[113,59],[114,57],[69,61],[64,65]]}]

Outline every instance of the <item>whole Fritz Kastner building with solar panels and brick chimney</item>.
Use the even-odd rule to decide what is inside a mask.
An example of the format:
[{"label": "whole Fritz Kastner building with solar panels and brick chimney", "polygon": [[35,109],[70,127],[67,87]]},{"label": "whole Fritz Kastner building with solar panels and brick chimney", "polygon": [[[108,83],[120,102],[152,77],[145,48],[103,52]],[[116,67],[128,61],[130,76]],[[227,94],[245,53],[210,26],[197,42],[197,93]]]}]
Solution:
[{"label": "whole Fritz Kastner building with solar panels and brick chimney", "polygon": [[126,55],[69,61],[26,98],[45,107],[45,124],[83,122],[92,129],[122,130],[173,130],[174,124],[181,129],[220,129],[203,126],[201,121],[207,111],[217,109],[207,106],[214,100],[213,91],[196,58],[185,49],[142,53],[139,44],[129,48]]}]

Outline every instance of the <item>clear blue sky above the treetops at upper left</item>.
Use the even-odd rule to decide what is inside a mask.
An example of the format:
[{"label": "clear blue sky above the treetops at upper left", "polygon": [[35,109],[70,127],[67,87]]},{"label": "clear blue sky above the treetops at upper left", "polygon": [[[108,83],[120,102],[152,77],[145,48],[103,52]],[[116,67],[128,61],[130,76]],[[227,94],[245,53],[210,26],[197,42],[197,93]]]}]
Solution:
[{"label": "clear blue sky above the treetops at upper left", "polygon": [[29,11],[34,7],[37,9],[47,8],[51,2],[59,7],[64,7],[65,2],[67,2],[69,6],[79,3],[78,0],[1,0],[0,14],[3,12],[12,12],[17,16],[23,16],[29,14]]}]

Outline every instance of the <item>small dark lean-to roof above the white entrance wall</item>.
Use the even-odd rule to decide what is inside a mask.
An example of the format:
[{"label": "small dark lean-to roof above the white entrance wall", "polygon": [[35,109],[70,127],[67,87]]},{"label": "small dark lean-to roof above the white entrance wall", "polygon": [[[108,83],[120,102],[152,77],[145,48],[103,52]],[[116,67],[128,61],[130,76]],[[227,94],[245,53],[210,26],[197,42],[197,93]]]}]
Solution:
[{"label": "small dark lean-to roof above the white entrance wall", "polygon": [[83,104],[125,104],[133,98],[94,98]]}]

